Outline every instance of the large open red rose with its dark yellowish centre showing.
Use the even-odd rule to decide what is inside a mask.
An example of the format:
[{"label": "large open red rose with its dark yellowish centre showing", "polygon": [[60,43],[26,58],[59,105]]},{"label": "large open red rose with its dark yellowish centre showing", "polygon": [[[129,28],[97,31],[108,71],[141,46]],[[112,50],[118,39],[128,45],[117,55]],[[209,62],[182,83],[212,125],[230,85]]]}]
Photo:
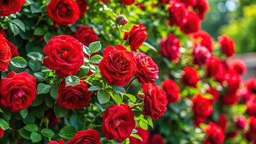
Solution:
[{"label": "large open red rose with its dark yellowish centre showing", "polygon": [[82,43],[70,35],[58,35],[51,38],[43,49],[47,56],[43,65],[55,70],[59,77],[76,75],[84,65]]}]

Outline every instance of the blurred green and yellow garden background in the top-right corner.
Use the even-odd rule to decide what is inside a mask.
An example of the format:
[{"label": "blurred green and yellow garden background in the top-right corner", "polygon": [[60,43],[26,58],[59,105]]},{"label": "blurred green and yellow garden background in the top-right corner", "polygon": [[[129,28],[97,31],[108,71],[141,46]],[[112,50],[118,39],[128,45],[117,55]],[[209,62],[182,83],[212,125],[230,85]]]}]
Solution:
[{"label": "blurred green and yellow garden background in the top-right corner", "polygon": [[217,40],[227,34],[236,43],[235,58],[242,59],[248,72],[247,80],[256,77],[256,0],[209,0],[211,11],[202,29]]}]

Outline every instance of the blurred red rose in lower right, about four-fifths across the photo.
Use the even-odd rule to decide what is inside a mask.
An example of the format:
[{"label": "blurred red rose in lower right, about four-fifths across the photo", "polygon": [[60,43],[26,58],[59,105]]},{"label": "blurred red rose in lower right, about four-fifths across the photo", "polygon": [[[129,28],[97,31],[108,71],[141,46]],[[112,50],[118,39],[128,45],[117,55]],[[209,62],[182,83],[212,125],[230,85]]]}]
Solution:
[{"label": "blurred red rose in lower right, about four-fifths across the photo", "polygon": [[196,116],[207,118],[212,115],[213,107],[209,99],[203,98],[202,94],[196,94],[192,98],[193,112]]}]

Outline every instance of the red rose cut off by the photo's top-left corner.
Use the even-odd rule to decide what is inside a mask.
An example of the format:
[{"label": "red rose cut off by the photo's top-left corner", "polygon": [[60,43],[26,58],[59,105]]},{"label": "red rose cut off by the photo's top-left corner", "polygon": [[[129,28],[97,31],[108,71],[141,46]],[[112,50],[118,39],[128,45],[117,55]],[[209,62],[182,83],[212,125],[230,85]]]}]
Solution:
[{"label": "red rose cut off by the photo's top-left corner", "polygon": [[2,0],[0,1],[0,17],[10,16],[20,11],[25,0]]}]

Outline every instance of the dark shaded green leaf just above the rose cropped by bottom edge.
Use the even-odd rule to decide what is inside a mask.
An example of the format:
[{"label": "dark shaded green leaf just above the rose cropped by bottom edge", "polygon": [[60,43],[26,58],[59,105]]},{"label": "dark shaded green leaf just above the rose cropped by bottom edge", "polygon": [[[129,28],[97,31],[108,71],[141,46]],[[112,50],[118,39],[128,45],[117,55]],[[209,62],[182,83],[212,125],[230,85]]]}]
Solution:
[{"label": "dark shaded green leaf just above the rose cropped by bottom edge", "polygon": [[82,130],[85,126],[85,117],[79,113],[73,113],[70,116],[70,124],[75,127],[76,131]]}]

